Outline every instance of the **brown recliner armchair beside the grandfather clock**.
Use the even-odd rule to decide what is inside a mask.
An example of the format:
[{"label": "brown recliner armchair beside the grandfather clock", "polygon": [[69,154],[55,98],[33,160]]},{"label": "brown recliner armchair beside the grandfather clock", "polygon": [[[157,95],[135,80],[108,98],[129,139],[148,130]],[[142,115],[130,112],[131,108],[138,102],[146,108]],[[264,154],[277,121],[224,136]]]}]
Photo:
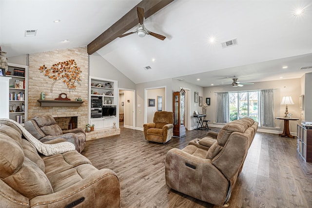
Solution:
[{"label": "brown recliner armchair beside the grandfather clock", "polygon": [[158,143],[168,142],[174,133],[174,113],[157,111],[154,114],[153,122],[143,124],[145,140]]}]

